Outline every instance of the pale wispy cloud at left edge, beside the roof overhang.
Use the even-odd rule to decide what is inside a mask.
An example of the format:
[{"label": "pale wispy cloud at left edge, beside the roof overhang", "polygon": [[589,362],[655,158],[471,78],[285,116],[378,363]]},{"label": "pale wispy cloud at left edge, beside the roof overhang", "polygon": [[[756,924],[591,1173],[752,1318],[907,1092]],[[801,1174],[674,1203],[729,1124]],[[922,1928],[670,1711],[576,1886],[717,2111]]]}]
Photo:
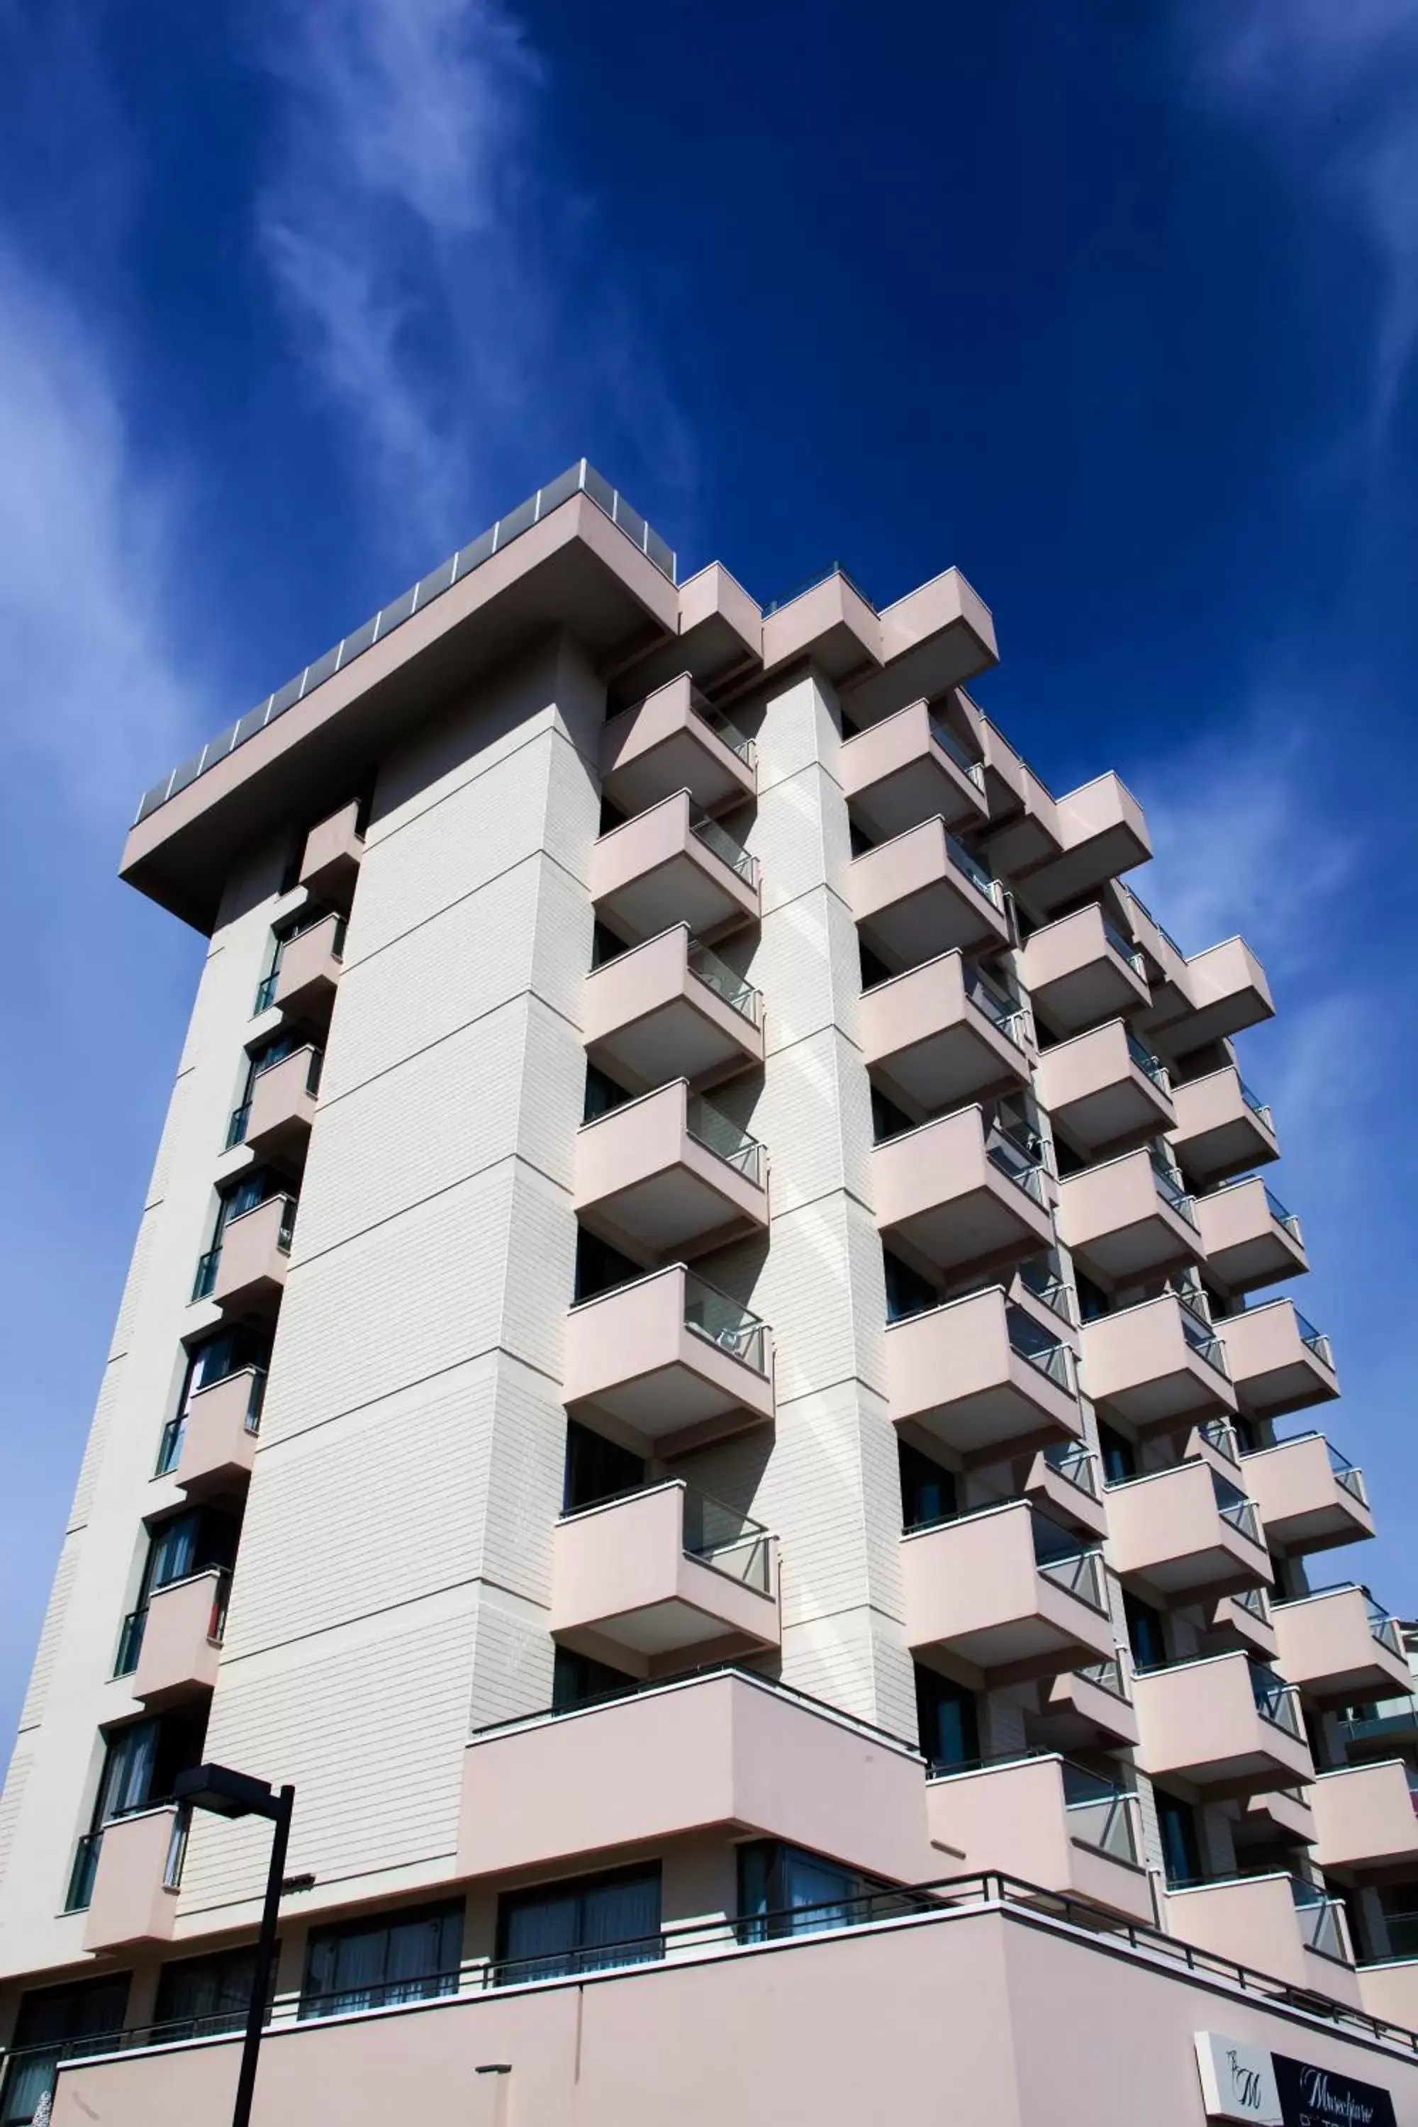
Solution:
[{"label": "pale wispy cloud at left edge, beside the roof overhang", "polygon": [[132,462],[111,362],[0,245],[0,759],[113,830],[191,730],[162,627],[168,498]]}]

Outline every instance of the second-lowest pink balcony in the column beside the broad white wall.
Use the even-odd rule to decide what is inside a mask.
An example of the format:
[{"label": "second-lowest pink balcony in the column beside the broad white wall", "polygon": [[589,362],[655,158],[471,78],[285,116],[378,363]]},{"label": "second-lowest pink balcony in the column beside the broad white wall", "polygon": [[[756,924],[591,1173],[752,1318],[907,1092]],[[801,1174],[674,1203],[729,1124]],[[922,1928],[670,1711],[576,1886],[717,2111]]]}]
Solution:
[{"label": "second-lowest pink balcony in the column beside the broad white wall", "polygon": [[767,1323],[682,1263],[574,1306],[563,1363],[570,1406],[608,1410],[661,1453],[774,1414]]}]

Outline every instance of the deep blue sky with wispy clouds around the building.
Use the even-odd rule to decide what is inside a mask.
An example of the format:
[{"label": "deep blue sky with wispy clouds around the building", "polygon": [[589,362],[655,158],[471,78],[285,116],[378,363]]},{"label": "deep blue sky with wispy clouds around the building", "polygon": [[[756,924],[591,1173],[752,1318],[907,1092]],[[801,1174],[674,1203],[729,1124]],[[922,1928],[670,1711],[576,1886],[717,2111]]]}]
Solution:
[{"label": "deep blue sky with wispy clouds around the building", "polygon": [[583,453],[759,598],[957,562],[1252,938],[1333,1570],[1418,1608],[1416,143],[1409,0],[0,0],[0,1729],[200,959],[134,800]]}]

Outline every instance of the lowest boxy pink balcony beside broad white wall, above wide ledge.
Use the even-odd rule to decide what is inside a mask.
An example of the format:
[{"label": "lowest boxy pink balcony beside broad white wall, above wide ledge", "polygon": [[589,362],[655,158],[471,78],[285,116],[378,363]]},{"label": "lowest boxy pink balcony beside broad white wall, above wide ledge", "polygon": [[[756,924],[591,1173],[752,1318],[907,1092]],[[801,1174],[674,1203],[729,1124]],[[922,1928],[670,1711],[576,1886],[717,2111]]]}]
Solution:
[{"label": "lowest boxy pink balcony beside broad white wall, above wide ledge", "polygon": [[778,1646],[778,1540],[678,1478],[565,1514],[551,1629],[644,1665]]}]

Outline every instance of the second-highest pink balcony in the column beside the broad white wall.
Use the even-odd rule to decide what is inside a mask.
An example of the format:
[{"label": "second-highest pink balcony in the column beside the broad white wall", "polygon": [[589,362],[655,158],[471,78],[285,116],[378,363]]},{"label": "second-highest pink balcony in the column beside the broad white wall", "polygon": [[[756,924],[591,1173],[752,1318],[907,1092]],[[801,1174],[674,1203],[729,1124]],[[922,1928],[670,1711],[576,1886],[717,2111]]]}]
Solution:
[{"label": "second-highest pink balcony in the column beside the broad white wall", "polygon": [[759,861],[689,791],[676,791],[595,842],[591,902],[631,944],[668,923],[719,938],[759,921]]}]

